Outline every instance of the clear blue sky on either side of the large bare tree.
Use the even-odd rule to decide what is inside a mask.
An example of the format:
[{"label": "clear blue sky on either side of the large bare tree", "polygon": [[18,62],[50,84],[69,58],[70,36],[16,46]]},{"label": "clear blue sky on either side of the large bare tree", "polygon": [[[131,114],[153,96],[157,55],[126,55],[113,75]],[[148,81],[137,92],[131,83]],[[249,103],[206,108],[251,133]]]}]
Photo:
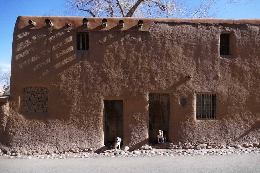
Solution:
[{"label": "clear blue sky on either side of the large bare tree", "polygon": [[[192,0],[199,3],[200,0]],[[244,19],[244,18],[260,18],[260,0],[245,0],[248,4],[239,3],[236,5],[226,6],[226,0],[218,2],[215,7],[219,7],[219,18],[228,19]],[[20,15],[40,16],[41,13],[57,8],[62,9],[61,0],[12,0],[1,1],[1,23],[0,29],[0,66],[3,69],[11,68],[12,40],[13,29],[16,18]]]}]

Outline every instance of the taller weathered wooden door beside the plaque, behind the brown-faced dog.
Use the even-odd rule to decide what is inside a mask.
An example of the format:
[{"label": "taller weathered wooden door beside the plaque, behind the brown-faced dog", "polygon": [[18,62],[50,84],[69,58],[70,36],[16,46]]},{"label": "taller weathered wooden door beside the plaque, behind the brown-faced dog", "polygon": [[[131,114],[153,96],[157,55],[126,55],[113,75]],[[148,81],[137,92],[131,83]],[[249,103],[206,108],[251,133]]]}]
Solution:
[{"label": "taller weathered wooden door beside the plaque, behind the brown-faced dog", "polygon": [[169,133],[169,117],[170,94],[149,94],[149,141],[158,140],[158,130]]}]

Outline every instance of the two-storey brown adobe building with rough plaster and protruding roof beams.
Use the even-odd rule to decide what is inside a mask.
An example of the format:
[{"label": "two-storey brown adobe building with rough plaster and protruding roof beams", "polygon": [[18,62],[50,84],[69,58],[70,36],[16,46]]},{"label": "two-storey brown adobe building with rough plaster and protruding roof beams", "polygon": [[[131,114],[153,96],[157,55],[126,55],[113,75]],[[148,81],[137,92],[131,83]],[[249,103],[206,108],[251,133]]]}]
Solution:
[{"label": "two-storey brown adobe building with rough plaster and protruding roof beams", "polygon": [[260,19],[17,18],[2,148],[260,141]]}]

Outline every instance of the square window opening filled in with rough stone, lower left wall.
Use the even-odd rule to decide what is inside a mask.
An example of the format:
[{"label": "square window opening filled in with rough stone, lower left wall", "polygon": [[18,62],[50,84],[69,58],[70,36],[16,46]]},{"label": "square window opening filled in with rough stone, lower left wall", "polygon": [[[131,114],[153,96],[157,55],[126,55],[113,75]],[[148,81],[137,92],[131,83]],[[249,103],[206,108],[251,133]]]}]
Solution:
[{"label": "square window opening filled in with rough stone, lower left wall", "polygon": [[22,111],[24,112],[48,112],[49,90],[43,87],[22,89]]}]

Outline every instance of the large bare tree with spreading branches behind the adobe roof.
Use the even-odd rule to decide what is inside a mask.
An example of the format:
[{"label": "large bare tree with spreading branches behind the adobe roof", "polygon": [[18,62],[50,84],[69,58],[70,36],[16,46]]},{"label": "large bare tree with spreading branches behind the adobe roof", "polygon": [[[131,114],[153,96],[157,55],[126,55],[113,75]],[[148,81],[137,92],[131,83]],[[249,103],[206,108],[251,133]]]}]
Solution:
[{"label": "large bare tree with spreading branches behind the adobe roof", "polygon": [[253,0],[63,0],[65,11],[51,10],[45,15],[88,17],[147,17],[147,18],[216,18],[218,1],[227,4],[249,3]]}]

